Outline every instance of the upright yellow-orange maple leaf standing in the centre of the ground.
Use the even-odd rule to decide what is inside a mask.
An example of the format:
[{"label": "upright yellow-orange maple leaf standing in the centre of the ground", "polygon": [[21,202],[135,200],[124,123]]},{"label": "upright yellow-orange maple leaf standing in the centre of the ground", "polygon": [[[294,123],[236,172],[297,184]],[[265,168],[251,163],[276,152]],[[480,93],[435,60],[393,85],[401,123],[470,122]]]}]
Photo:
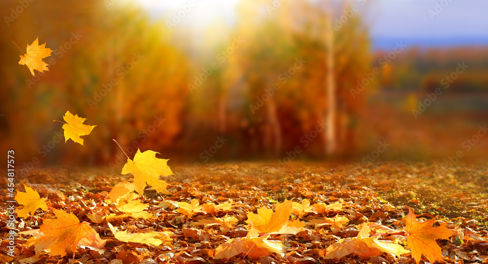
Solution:
[{"label": "upright yellow-orange maple leaf standing in the centre of the ground", "polygon": [[275,212],[269,208],[259,208],[258,213],[248,213],[247,229],[254,228],[260,233],[269,234],[279,231],[282,226],[288,223],[291,213],[293,212],[291,200],[285,200],[283,203],[276,204]]}]

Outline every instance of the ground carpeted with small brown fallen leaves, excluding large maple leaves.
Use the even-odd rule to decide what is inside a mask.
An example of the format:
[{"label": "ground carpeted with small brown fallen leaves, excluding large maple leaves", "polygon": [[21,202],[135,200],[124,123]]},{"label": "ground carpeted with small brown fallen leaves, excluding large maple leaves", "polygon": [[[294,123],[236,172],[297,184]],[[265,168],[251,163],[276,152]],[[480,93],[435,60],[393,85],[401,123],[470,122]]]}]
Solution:
[{"label": "ground carpeted with small brown fallen leaves, excluding large maple leaves", "polygon": [[[415,263],[410,253],[401,256],[381,253],[367,259],[354,253],[340,260],[325,258],[326,248],[331,244],[339,239],[358,236],[357,225],[361,223],[380,223],[401,231],[408,207],[411,207],[417,219],[429,220],[439,214],[437,225],[447,223],[449,228],[458,232],[450,240],[437,241],[442,248],[444,263],[488,263],[486,165],[388,162],[369,166],[321,163],[280,166],[276,163],[226,163],[209,164],[196,170],[193,166],[172,169],[175,175],[164,177],[172,195],[161,195],[147,187],[140,198],[147,205],[144,212],[151,217],[124,214],[105,201],[113,186],[131,181],[130,175],[42,168],[17,179],[45,197],[49,210],[38,209],[34,216],[29,215],[25,219],[18,217],[15,232],[39,229],[43,219],[55,218],[54,209],[62,209],[73,213],[80,221],[89,222],[107,241],[104,251],[77,247],[74,252],[68,249],[67,255],[59,258],[45,252],[36,254],[34,246],[26,244],[30,236],[20,235],[15,240],[16,257],[10,257],[6,254],[9,243],[6,237],[11,228],[7,227],[7,212],[2,209],[0,261],[22,264]],[[3,186],[7,185],[5,179],[1,180]],[[23,192],[24,187],[17,182],[16,190]],[[194,199],[200,205],[230,202],[232,210],[207,209],[188,214],[178,209],[178,202],[192,203]],[[305,231],[294,235],[272,235],[270,240],[284,245],[282,253],[271,252],[255,258],[238,254],[229,260],[214,259],[219,245],[229,239],[247,236],[245,221],[248,213],[257,213],[258,208],[263,207],[274,209],[277,203],[285,200],[302,203],[305,199],[311,205],[343,201],[344,208],[320,213],[310,210],[298,216],[294,214],[292,218],[310,223],[339,215],[346,217],[348,222],[340,228],[330,224],[307,224]],[[102,218],[108,215],[112,217],[108,220]],[[197,224],[201,220],[225,216],[234,217],[236,221],[230,224]],[[166,232],[170,239],[158,246],[122,242],[114,238],[112,228],[130,233]],[[406,243],[404,246],[407,248]],[[426,258],[420,263],[424,262],[428,263]]]}]

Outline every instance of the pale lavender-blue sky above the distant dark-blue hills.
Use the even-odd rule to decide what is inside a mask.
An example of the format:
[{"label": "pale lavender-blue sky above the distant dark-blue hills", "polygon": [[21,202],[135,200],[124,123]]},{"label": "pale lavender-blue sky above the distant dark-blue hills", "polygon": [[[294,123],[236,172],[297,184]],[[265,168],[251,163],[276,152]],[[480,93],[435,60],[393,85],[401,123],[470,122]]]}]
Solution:
[{"label": "pale lavender-blue sky above the distant dark-blue hills", "polygon": [[[374,0],[373,0],[374,1]],[[376,0],[369,7],[371,35],[383,37],[488,36],[487,0]],[[436,2],[445,5],[438,15]],[[448,3],[447,5],[445,3]],[[437,10],[440,10],[438,7]]]}]

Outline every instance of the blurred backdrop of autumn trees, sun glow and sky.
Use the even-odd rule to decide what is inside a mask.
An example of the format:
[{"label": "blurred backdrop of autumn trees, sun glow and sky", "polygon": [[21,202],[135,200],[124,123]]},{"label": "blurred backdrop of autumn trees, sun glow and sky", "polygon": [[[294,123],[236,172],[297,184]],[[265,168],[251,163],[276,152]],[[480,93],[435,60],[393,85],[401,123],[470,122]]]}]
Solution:
[{"label": "blurred backdrop of autumn trees, sun glow and sky", "polygon": [[[0,145],[21,173],[173,163],[484,160],[483,0],[2,0]],[[53,50],[32,76],[20,50]],[[10,38],[12,41],[10,41]],[[66,111],[97,125],[64,143]]]}]

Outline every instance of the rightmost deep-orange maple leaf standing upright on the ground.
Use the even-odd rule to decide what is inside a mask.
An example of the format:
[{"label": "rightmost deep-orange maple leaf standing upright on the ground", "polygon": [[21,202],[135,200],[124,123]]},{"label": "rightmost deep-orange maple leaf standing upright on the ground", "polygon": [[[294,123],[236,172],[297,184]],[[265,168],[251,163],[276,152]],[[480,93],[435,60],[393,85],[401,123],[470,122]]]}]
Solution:
[{"label": "rightmost deep-orange maple leaf standing upright on the ground", "polygon": [[412,250],[412,257],[417,264],[422,254],[430,263],[442,261],[441,247],[437,245],[436,239],[449,239],[457,234],[456,231],[447,228],[447,223],[433,227],[436,218],[426,222],[418,222],[412,209],[408,207],[408,215],[405,223],[405,232],[408,234],[407,246]]}]

